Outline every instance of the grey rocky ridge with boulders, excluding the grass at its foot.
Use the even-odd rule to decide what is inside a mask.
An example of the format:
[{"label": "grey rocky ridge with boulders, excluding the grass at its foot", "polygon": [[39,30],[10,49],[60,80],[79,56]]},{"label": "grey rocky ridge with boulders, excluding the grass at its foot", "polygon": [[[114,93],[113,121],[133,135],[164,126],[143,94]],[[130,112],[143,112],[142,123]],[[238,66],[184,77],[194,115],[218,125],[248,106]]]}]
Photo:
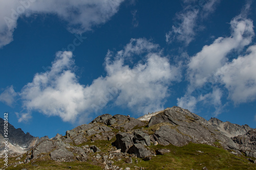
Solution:
[{"label": "grey rocky ridge with boulders, excluding the grass at its foot", "polygon": [[[24,135],[24,132],[20,133]],[[23,142],[30,145],[34,142],[34,146],[23,158],[24,163],[47,157],[56,162],[90,160],[104,169],[120,169],[114,165],[114,161],[123,160],[130,164],[136,157],[150,161],[153,156],[171,152],[162,149],[163,146],[173,144],[181,147],[189,142],[224,148],[236,156],[243,152],[251,157],[248,158],[251,162],[254,161],[253,157],[256,158],[256,129],[224,123],[217,118],[207,121],[176,106],[138,119],[120,114],[103,114],[88,125],[78,126],[68,130],[65,136],[57,134],[51,139],[48,136],[40,139],[29,134],[27,136],[29,139]],[[153,144],[161,146],[154,149]],[[21,157],[16,159],[20,160]],[[135,163],[138,163],[137,159]]]}]

